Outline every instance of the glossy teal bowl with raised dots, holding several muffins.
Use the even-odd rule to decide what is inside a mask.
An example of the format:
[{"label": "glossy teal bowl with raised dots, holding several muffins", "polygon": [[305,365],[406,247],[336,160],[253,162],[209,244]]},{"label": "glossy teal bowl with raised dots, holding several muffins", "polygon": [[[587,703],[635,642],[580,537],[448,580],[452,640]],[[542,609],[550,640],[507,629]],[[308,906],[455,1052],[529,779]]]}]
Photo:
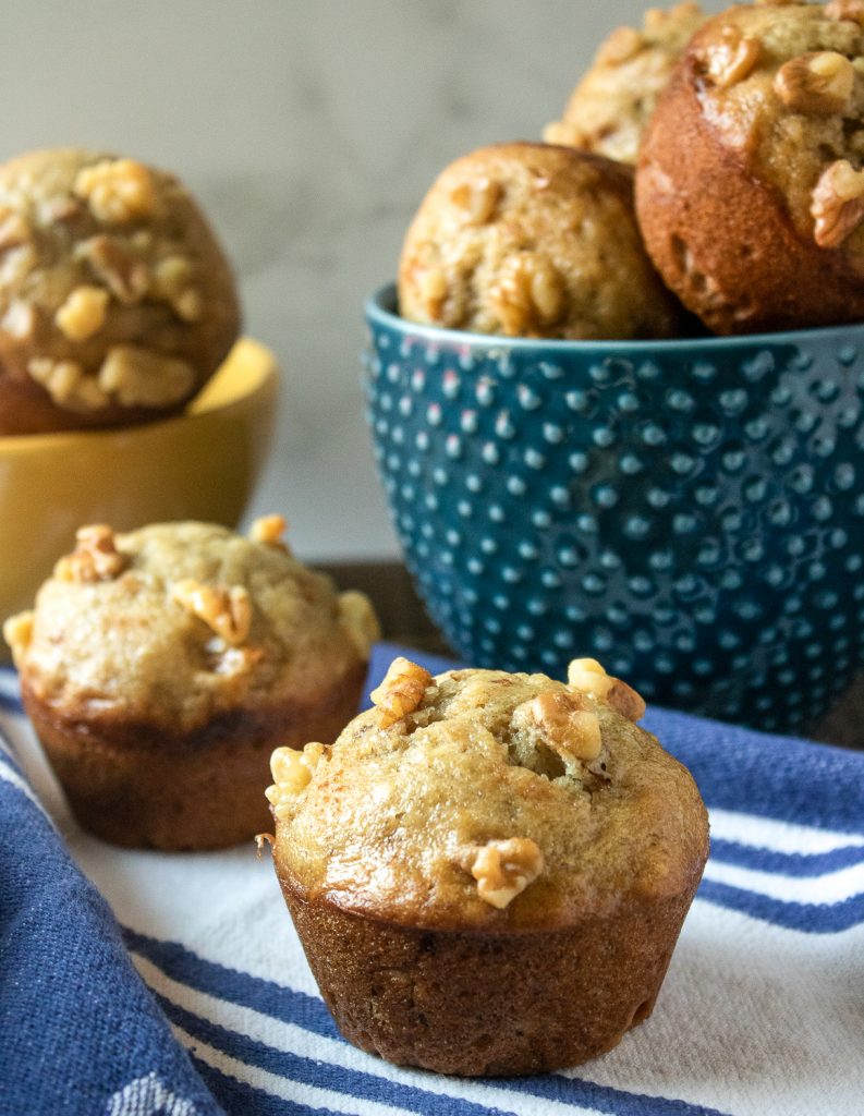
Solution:
[{"label": "glossy teal bowl with raised dots, holding several muffins", "polygon": [[771,731],[864,658],[864,326],[545,341],[366,306],[365,391],[405,560],[467,661],[598,658]]}]

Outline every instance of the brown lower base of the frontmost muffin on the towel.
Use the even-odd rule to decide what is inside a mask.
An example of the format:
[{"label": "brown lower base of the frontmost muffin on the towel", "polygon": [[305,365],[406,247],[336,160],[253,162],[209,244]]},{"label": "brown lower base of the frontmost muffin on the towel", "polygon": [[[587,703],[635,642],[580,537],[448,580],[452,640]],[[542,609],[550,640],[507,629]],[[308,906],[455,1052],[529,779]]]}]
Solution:
[{"label": "brown lower base of the frontmost muffin on the towel", "polygon": [[339,1031],[402,1066],[515,1077],[576,1066],[653,1011],[692,889],[564,930],[382,922],[277,875]]}]

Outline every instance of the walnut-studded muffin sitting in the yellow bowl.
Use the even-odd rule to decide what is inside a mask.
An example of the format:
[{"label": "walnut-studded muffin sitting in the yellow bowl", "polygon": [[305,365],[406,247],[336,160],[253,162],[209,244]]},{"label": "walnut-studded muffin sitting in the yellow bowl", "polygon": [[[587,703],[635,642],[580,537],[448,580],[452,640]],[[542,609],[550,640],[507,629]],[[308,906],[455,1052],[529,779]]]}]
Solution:
[{"label": "walnut-studded muffin sitting in the yellow bowl", "polygon": [[0,166],[0,434],[170,414],[239,324],[231,269],[172,174],[75,148]]}]

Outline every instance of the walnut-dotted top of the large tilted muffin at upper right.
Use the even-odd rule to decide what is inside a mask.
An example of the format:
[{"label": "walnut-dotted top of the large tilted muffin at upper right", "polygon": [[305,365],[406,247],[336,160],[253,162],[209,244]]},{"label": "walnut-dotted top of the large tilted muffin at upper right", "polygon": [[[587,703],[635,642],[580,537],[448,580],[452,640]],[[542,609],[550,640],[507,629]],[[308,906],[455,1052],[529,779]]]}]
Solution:
[{"label": "walnut-dotted top of the large tilted muffin at upper right", "polygon": [[797,234],[863,271],[864,3],[730,8],[683,67],[707,124]]}]

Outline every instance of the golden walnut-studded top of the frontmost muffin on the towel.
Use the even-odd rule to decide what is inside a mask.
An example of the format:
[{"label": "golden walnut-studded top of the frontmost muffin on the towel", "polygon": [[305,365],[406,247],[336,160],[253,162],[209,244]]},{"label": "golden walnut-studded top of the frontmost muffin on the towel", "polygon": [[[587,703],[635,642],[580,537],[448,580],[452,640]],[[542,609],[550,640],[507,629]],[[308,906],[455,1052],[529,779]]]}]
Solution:
[{"label": "golden walnut-studded top of the frontmost muffin on the towel", "polygon": [[396,660],[335,744],[277,749],[275,856],[314,901],[441,929],[553,929],[679,894],[695,785],[593,660],[568,683]]}]

